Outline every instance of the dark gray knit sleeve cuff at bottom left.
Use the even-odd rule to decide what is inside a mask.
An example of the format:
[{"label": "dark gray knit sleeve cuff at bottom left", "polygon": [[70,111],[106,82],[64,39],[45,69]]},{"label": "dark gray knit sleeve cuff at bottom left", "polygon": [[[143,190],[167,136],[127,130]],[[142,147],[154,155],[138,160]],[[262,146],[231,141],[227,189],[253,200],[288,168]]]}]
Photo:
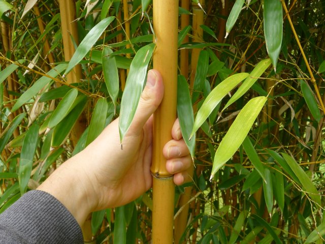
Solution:
[{"label": "dark gray knit sleeve cuff at bottom left", "polygon": [[0,215],[0,243],[84,243],[69,210],[43,191],[25,193]]}]

